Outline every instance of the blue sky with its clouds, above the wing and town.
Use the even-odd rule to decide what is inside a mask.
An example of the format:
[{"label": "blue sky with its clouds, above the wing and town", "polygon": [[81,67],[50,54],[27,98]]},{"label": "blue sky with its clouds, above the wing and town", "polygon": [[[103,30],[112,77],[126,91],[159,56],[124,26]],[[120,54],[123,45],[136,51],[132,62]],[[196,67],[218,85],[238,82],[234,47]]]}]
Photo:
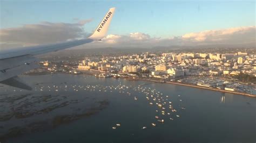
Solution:
[{"label": "blue sky with its clouds, above the wing and town", "polygon": [[0,4],[2,46],[85,38],[112,7],[116,13],[109,35],[98,46],[255,42],[255,1],[2,0]]}]

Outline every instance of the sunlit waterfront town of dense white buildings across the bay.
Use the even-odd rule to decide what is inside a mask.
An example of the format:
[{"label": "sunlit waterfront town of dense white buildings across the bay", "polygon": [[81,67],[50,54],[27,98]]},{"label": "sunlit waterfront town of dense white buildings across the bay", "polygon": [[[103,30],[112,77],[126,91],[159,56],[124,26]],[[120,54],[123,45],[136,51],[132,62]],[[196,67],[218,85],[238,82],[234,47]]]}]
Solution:
[{"label": "sunlit waterfront town of dense white buildings across the bay", "polygon": [[[70,59],[70,57],[69,57]],[[256,95],[256,54],[247,52],[140,52],[45,60],[28,74],[91,74],[151,80]]]}]

